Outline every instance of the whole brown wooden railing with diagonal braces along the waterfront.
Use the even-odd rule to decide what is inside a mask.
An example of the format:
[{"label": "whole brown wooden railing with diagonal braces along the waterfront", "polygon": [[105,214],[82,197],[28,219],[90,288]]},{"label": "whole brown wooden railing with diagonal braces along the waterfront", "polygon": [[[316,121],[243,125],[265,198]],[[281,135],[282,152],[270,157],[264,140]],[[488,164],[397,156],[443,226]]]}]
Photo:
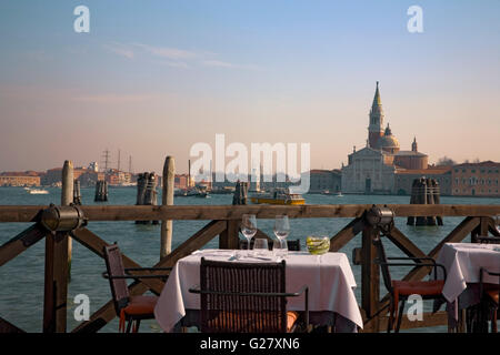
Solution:
[{"label": "whole brown wooden railing with diagonal braces along the waterfront", "polygon": [[[187,239],[170,254],[162,257],[154,267],[173,266],[178,260],[202,247],[219,236],[219,247],[238,248],[239,224],[244,213],[256,214],[258,219],[273,219],[287,214],[291,219],[331,219],[351,217],[342,230],[331,236],[330,251],[341,251],[358,234],[361,234],[361,248],[356,251],[354,263],[361,265],[361,313],[364,318],[364,332],[379,332],[387,327],[388,295],[380,296],[379,267],[374,263],[373,236],[379,233],[364,221],[363,214],[372,205],[203,205],[203,206],[80,206],[88,222],[94,221],[168,221],[207,220],[200,231]],[[430,253],[422,252],[400,230],[394,227],[388,235],[399,250],[408,256],[430,256],[436,258],[444,243],[461,242],[469,234],[472,241],[477,235],[491,233],[499,235],[492,216],[500,214],[500,205],[402,205],[389,204],[397,217],[407,216],[457,216],[464,220],[456,226]],[[90,251],[103,257],[103,246],[108,243],[86,226],[71,232],[49,232],[40,222],[41,212],[48,206],[0,206],[0,222],[32,222],[33,224],[0,246],[0,266],[20,255],[31,245],[46,239],[43,332],[67,332],[68,293],[68,240],[71,237]],[[258,236],[268,237],[262,231]],[[132,258],[123,255],[124,267],[140,267]],[[418,281],[429,272],[428,267],[414,267],[403,280]],[[100,277],[100,275],[96,275]],[[164,283],[154,278],[144,278],[129,286],[131,295],[141,295],[147,291],[161,293]],[[110,300],[93,313],[89,321],[81,323],[72,332],[97,332],[116,317]],[[401,328],[429,327],[447,324],[444,312],[424,314],[422,322],[402,322]],[[16,325],[1,318],[0,332],[19,332]]]}]

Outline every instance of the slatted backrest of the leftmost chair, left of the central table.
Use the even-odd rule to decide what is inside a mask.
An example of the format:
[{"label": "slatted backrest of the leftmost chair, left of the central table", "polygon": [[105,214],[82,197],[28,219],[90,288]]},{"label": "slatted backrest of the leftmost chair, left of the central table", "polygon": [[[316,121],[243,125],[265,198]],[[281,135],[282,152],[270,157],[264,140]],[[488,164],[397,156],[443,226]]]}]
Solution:
[{"label": "slatted backrest of the leftmost chair, left of the central table", "polygon": [[[121,257],[120,248],[117,244],[107,245],[103,248],[106,270],[109,276],[126,276],[123,261]],[[129,288],[127,286],[126,278],[111,278],[109,277],[109,285],[111,287],[111,294],[113,297],[114,310],[117,315],[120,315],[121,308],[129,303]]]}]

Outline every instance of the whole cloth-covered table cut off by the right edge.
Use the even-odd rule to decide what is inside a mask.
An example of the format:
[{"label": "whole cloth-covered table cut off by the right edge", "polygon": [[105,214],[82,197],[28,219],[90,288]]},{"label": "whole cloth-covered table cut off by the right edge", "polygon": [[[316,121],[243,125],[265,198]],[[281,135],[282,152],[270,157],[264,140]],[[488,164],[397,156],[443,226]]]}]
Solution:
[{"label": "whole cloth-covered table cut off by the right edge", "polygon": [[[449,308],[450,320],[458,322],[458,310],[464,310],[480,302],[479,271],[481,267],[500,271],[500,245],[447,243],[436,261],[447,270],[442,294],[453,305]],[[439,278],[443,278],[439,270]],[[498,277],[484,275],[484,283],[498,284]]]}]

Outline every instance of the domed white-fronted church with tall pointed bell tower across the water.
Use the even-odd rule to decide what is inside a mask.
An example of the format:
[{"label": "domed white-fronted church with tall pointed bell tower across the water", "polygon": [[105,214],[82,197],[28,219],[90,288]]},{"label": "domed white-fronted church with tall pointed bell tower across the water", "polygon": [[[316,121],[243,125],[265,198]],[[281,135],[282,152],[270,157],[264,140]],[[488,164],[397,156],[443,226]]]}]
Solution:
[{"label": "domed white-fronted church with tall pointed bell tower across the water", "polygon": [[348,165],[342,165],[342,192],[367,194],[396,193],[398,171],[428,169],[428,155],[418,151],[413,138],[410,151],[400,150],[398,139],[387,124],[377,82],[373,103],[369,114],[367,146],[353,149],[348,155]]}]

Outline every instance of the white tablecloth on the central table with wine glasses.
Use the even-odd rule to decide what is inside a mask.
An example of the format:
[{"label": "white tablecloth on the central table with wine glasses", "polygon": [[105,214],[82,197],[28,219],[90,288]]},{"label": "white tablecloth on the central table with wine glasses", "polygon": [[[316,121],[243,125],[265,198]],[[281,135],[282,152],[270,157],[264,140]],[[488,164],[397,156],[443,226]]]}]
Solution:
[{"label": "white tablecloth on the central table with wine glasses", "polygon": [[[154,308],[158,324],[171,332],[186,310],[199,310],[200,296],[189,292],[200,284],[200,260],[228,261],[234,251],[203,250],[179,260],[173,267]],[[238,262],[271,262],[259,258],[240,258]],[[343,253],[310,255],[307,252],[289,252],[287,258],[287,292],[297,292],[309,286],[309,310],[330,311],[340,314],[362,328],[362,317],[356,301],[354,276],[349,260]],[[289,311],[303,311],[303,295],[288,298]]]}]

